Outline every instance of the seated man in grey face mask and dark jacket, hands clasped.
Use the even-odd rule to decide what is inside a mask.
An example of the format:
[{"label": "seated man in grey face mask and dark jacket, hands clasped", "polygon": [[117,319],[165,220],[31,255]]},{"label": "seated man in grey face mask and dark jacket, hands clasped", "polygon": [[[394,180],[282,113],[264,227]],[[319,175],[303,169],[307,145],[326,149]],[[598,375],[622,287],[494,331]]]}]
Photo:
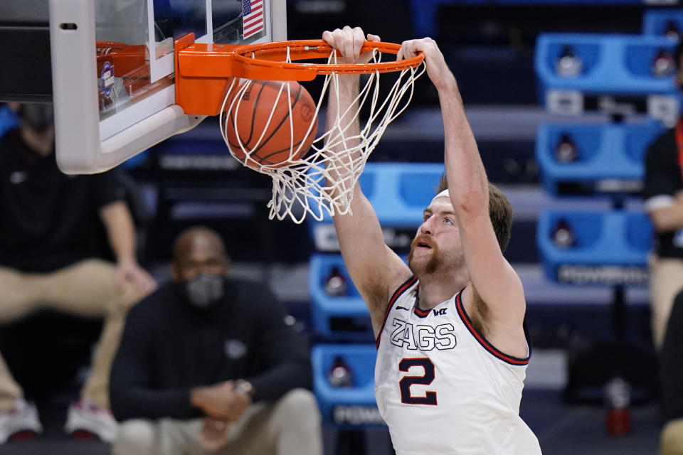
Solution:
[{"label": "seated man in grey face mask and dark jacket, hands clasped", "polygon": [[228,277],[221,237],[189,228],[173,280],[129,312],[112,365],[115,455],[321,455],[309,353],[263,284]]}]

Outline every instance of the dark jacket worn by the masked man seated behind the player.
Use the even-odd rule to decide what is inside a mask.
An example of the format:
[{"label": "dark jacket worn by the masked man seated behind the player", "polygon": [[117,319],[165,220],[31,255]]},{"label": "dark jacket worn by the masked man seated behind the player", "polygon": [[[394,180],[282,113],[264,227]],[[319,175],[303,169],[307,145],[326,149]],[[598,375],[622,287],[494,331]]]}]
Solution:
[{"label": "dark jacket worn by the masked man seated behind the player", "polygon": [[311,386],[305,340],[263,284],[226,280],[216,308],[199,310],[167,283],[129,312],[112,365],[110,400],[118,420],[201,417],[190,390],[245,379],[254,401]]}]

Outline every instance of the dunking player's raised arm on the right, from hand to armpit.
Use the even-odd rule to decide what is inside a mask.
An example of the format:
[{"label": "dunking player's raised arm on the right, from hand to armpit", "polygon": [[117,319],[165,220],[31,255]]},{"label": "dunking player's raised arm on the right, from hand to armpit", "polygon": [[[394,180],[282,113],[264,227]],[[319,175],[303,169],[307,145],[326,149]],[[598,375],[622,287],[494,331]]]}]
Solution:
[{"label": "dunking player's raised arm on the right, from hand to armpit", "polygon": [[[455,76],[431,38],[406,41],[399,57],[425,53],[430,80],[438,90],[444,124],[445,168],[450,200],[455,211],[465,264],[473,289],[463,299],[483,301],[492,341],[526,350],[520,338],[526,304],[521,281],[502,254],[489,217],[489,182],[470,128]],[[470,300],[472,301],[472,300]],[[514,340],[508,343],[509,340]],[[521,347],[520,347],[521,346]],[[521,356],[526,353],[520,353]]]}]

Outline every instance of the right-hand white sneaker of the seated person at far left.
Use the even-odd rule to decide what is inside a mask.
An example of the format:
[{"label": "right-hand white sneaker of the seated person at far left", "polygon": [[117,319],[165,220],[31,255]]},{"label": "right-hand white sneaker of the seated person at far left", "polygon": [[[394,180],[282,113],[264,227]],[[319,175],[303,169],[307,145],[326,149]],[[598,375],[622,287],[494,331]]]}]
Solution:
[{"label": "right-hand white sneaker of the seated person at far left", "polygon": [[77,439],[100,438],[112,442],[119,424],[110,410],[95,405],[85,398],[69,407],[64,431]]}]

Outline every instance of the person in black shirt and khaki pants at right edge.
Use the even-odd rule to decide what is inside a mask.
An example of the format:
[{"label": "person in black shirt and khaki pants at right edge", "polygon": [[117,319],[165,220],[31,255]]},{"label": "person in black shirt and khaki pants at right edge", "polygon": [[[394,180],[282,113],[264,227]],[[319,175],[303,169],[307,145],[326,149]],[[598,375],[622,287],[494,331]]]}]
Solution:
[{"label": "person in black shirt and khaki pants at right edge", "polygon": [[[674,50],[676,84],[683,90],[683,43]],[[660,349],[674,296],[683,289],[683,119],[662,134],[645,156],[645,210],[655,228],[650,256],[652,338]]]}]

